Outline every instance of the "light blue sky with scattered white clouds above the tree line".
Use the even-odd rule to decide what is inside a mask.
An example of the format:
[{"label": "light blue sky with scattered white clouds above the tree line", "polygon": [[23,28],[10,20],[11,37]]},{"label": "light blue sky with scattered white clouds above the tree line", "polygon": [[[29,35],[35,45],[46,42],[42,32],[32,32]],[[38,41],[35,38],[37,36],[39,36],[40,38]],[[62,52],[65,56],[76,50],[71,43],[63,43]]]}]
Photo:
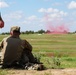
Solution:
[{"label": "light blue sky with scattered white clouds above the tree line", "polygon": [[5,22],[0,32],[10,31],[11,26],[38,31],[62,25],[76,31],[76,0],[0,0],[0,12]]}]

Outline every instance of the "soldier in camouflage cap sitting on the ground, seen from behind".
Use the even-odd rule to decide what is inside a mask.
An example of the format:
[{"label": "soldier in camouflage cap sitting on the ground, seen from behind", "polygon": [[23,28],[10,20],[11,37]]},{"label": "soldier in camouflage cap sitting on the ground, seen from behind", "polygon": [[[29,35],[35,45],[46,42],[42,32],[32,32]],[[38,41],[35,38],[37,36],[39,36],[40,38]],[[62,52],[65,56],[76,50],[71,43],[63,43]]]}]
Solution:
[{"label": "soldier in camouflage cap sitting on the ground, seen from behind", "polygon": [[28,62],[34,63],[32,46],[28,41],[20,38],[20,27],[11,27],[10,34],[9,37],[4,38],[0,43],[0,48],[2,48],[2,68],[10,68],[17,65],[24,67]]}]

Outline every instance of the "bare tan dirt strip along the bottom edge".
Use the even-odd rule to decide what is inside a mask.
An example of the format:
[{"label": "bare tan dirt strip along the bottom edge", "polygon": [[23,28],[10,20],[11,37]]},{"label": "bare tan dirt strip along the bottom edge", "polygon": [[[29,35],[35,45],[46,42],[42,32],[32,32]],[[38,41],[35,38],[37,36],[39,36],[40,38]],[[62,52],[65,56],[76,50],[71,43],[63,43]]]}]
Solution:
[{"label": "bare tan dirt strip along the bottom edge", "polygon": [[76,69],[9,70],[7,75],[76,75]]}]

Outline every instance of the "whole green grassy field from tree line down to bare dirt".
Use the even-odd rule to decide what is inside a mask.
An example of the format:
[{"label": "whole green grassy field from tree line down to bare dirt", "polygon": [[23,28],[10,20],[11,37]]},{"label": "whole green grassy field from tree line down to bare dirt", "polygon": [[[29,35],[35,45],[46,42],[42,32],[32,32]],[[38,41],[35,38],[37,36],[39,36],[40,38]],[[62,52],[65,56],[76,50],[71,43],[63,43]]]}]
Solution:
[{"label": "whole green grassy field from tree line down to bare dirt", "polygon": [[[0,41],[8,35],[0,35]],[[76,34],[21,34],[47,68],[76,68]],[[54,61],[61,63],[60,66]],[[54,60],[54,61],[53,61]]]}]

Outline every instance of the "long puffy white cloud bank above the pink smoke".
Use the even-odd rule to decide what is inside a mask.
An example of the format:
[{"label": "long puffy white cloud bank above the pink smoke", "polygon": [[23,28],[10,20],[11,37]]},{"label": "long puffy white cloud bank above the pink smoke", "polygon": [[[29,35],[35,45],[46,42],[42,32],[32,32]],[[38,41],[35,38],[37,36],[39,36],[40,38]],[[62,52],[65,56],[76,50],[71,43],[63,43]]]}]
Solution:
[{"label": "long puffy white cloud bank above the pink smoke", "polygon": [[38,12],[45,13],[45,14],[47,13],[50,18],[59,18],[59,17],[64,17],[68,15],[67,12],[60,11],[58,9],[53,9],[53,8],[48,8],[48,9],[41,8],[38,10]]}]

